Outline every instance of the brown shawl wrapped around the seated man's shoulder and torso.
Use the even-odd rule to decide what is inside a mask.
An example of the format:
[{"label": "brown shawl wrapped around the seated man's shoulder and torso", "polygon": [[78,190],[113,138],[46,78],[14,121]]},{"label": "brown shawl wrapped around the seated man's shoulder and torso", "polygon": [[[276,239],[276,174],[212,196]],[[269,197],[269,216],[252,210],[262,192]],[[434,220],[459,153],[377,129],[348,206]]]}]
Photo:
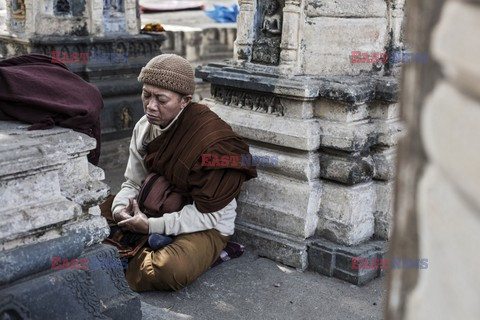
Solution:
[{"label": "brown shawl wrapped around the seated man's shoulder and torso", "polygon": [[178,190],[188,193],[200,212],[215,212],[257,176],[252,166],[202,166],[202,154],[249,154],[248,145],[207,106],[191,103],[173,126],[148,145],[145,164]]}]

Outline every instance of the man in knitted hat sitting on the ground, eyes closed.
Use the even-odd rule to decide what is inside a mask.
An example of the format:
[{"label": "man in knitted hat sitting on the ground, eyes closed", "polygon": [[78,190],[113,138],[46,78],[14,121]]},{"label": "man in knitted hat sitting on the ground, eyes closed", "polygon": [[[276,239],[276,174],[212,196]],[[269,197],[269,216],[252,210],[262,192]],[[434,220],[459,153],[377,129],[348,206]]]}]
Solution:
[{"label": "man in knitted hat sitting on the ground, eyes closed", "polygon": [[[256,170],[237,162],[202,163],[202,154],[241,159],[249,149],[208,107],[191,102],[195,80],[188,61],[159,55],[142,68],[138,80],[143,83],[145,116],[133,131],[126,182],[112,213],[118,225],[130,231],[173,237],[171,244],[159,250],[145,247],[131,259],[126,272],[130,287],[178,290],[219,257],[234,231],[235,198]],[[150,173],[164,177],[189,204],[148,218],[134,199]]]}]

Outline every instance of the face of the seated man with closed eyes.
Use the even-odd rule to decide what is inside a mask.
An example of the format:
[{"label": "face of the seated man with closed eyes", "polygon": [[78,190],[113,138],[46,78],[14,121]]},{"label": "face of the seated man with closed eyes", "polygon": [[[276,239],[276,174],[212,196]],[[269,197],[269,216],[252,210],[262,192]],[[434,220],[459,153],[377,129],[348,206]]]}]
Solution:
[{"label": "face of the seated man with closed eyes", "polygon": [[191,96],[180,94],[152,86],[143,85],[142,102],[143,111],[147,115],[148,122],[161,127],[166,127],[177,114],[190,102]]}]

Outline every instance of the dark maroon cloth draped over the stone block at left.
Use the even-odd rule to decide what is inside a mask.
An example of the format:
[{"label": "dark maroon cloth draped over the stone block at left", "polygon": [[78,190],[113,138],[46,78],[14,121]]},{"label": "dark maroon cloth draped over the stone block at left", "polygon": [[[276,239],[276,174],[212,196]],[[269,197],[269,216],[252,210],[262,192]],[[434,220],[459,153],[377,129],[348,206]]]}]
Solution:
[{"label": "dark maroon cloth draped over the stone block at left", "polygon": [[0,61],[0,120],[30,123],[29,130],[58,125],[94,137],[97,148],[88,158],[97,164],[102,96],[63,63],[51,60],[29,54]]}]

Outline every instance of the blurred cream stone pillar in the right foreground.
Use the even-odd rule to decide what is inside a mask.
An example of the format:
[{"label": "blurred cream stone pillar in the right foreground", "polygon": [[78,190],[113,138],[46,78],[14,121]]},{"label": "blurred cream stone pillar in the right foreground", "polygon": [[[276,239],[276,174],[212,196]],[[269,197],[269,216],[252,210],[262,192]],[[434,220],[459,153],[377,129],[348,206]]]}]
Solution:
[{"label": "blurred cream stone pillar in the right foreground", "polygon": [[477,319],[480,276],[478,1],[408,1],[387,319]]}]

